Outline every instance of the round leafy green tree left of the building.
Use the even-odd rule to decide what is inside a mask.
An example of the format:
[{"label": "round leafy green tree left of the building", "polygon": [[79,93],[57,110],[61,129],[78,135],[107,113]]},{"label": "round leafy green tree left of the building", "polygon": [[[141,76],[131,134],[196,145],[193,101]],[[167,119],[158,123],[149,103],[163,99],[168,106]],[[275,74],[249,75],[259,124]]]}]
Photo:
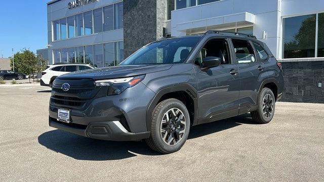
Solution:
[{"label": "round leafy green tree left of the building", "polygon": [[[15,71],[30,75],[36,72],[37,58],[35,54],[27,49],[14,54]],[[13,70],[13,59],[10,59],[10,66]],[[29,77],[30,82],[30,77]]]}]

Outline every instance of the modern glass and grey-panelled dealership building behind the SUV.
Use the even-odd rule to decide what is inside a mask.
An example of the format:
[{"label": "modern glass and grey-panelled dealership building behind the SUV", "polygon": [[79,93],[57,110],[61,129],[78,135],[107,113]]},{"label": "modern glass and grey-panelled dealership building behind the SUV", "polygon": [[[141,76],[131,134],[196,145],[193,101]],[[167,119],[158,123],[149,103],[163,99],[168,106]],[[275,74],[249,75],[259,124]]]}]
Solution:
[{"label": "modern glass and grey-panelled dealership building behind the SUV", "polygon": [[237,31],[282,63],[282,100],[324,103],[322,0],[55,0],[47,16],[49,64],[114,66],[163,36]]}]

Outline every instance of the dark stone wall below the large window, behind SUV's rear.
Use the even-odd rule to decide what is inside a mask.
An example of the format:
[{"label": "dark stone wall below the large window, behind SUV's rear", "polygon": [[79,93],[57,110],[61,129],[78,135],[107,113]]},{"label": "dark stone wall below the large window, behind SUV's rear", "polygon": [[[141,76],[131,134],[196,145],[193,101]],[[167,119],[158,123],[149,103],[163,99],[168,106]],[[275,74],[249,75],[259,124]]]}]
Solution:
[{"label": "dark stone wall below the large window, behind SUV's rear", "polygon": [[[283,62],[285,80],[281,101],[324,103],[324,61]],[[322,87],[318,87],[318,83]]]}]

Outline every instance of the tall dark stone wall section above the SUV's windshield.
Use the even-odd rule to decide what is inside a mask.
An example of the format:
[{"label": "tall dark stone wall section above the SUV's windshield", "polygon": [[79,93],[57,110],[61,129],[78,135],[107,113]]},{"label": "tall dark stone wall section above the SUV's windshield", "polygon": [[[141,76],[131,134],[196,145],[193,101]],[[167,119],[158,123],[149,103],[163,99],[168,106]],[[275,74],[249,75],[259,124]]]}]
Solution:
[{"label": "tall dark stone wall section above the SUV's windshield", "polygon": [[124,56],[163,36],[166,0],[124,0]]}]

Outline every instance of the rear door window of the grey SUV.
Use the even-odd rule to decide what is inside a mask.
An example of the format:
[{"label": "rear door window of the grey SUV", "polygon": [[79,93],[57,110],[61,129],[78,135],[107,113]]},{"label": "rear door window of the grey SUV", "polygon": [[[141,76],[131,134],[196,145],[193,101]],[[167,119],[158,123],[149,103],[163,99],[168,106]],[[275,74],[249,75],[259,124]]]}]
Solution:
[{"label": "rear door window of the grey SUV", "polygon": [[255,62],[255,55],[250,43],[246,40],[232,40],[237,63]]}]

